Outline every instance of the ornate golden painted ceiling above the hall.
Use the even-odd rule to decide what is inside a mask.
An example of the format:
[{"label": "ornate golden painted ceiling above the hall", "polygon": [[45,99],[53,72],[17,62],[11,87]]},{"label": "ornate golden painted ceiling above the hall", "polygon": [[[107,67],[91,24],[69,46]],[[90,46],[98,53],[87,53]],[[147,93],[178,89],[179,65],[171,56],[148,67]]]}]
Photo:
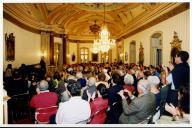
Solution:
[{"label": "ornate golden painted ceiling above the hall", "polygon": [[[184,3],[4,3],[4,17],[38,31],[54,31],[68,35],[69,39],[91,40],[90,26],[105,22],[115,39],[162,17]],[[184,6],[185,7],[185,6]],[[8,18],[7,18],[8,19]]]}]

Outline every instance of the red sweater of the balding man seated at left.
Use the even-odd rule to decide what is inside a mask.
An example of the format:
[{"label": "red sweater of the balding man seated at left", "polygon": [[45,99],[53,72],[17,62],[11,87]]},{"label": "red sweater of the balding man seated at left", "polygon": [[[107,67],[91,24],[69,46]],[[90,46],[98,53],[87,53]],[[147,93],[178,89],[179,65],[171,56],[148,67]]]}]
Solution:
[{"label": "red sweater of the balding man seated at left", "polygon": [[41,92],[34,95],[31,99],[30,106],[33,108],[45,108],[57,104],[57,94],[55,92]]}]

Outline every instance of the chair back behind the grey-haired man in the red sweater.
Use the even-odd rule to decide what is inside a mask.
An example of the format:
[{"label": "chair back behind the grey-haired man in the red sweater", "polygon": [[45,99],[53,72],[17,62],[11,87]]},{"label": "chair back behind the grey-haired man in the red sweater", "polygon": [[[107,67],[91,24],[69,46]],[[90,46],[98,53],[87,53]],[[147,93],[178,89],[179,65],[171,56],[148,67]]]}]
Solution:
[{"label": "chair back behind the grey-haired man in the red sweater", "polygon": [[35,111],[35,120],[37,123],[49,123],[49,118],[57,113],[58,106],[37,108]]}]

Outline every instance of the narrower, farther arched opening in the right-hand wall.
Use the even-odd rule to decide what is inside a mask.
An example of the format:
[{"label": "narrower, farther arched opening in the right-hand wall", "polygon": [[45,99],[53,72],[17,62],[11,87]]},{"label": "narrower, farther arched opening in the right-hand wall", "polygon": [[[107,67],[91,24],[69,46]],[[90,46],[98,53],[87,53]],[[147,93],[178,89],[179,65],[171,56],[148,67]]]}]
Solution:
[{"label": "narrower, farther arched opening in the right-hand wall", "polygon": [[132,41],[130,43],[130,54],[129,54],[129,62],[130,63],[136,63],[136,42],[135,41]]}]

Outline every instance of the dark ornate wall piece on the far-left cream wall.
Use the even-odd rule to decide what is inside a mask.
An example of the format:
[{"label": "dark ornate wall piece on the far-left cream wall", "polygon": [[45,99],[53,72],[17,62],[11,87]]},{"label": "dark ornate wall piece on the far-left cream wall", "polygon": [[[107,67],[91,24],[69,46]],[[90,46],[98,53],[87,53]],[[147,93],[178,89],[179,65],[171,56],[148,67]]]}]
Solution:
[{"label": "dark ornate wall piece on the far-left cream wall", "polygon": [[15,60],[15,36],[13,33],[10,33],[9,36],[5,34],[5,45],[6,45],[6,60],[14,61]]}]

